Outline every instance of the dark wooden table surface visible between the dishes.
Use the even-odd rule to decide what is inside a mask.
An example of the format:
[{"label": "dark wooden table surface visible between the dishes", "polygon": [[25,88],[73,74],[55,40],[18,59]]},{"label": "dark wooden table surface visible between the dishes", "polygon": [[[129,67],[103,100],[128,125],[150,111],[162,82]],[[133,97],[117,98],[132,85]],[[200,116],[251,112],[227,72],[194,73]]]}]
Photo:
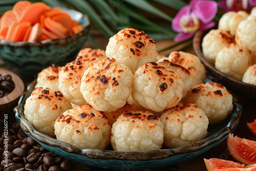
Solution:
[{"label": "dark wooden table surface visible between the dishes", "polygon": [[[95,38],[95,41],[101,46],[101,49],[105,50],[105,46],[108,44],[108,40],[106,40],[102,35],[99,35],[99,34],[94,34],[94,38]],[[191,42],[188,42],[188,44],[189,43]],[[161,50],[173,44],[174,42],[172,40],[166,40],[166,41],[157,42],[156,46],[157,46],[157,50]],[[83,47],[93,48],[90,42],[87,42]],[[185,51],[185,52],[194,53],[193,48],[191,46],[187,47],[187,44],[183,44],[174,49],[163,51],[161,54],[168,56],[170,51],[180,50],[180,49],[182,49],[182,51]],[[22,75],[15,68],[3,65],[3,61],[0,60],[0,64],[1,62],[2,62],[1,67],[7,68],[17,73],[24,80],[25,87],[28,85],[29,82],[35,79],[35,76]],[[236,127],[236,129],[233,131],[234,136],[256,141],[256,137],[249,132],[246,126],[246,122],[251,122],[254,119],[256,119],[256,105],[255,105],[256,102],[243,97],[239,97],[235,94],[233,94],[233,96],[236,97],[238,99],[238,103],[240,103],[243,106],[243,113],[242,113],[241,120],[238,126]],[[220,158],[220,159],[227,159],[227,160],[234,161],[234,159],[228,153],[226,140],[224,140],[222,143],[218,144],[214,148],[211,148],[205,154],[202,154],[201,156],[196,157],[194,159],[179,163],[175,165],[175,167],[170,166],[170,167],[157,168],[157,169],[151,169],[151,170],[180,170],[180,171],[207,170],[204,164],[204,160],[203,160],[204,158],[206,159]],[[76,163],[75,168],[73,170],[76,170],[76,171],[87,170],[86,167],[88,166],[85,164]],[[91,168],[90,170],[114,170],[114,169]],[[150,170],[150,169],[146,169],[146,170]]]}]

